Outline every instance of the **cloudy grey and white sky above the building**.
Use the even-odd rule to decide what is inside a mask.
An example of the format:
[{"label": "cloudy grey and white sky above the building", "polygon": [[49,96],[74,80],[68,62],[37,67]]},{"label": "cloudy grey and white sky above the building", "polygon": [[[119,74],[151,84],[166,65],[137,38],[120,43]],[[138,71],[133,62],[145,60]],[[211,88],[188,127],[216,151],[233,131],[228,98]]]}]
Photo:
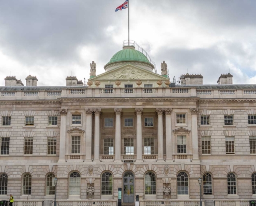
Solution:
[{"label": "cloudy grey and white sky above the building", "polygon": [[[97,74],[127,39],[124,0],[0,0],[0,85],[6,76],[38,85],[66,85],[65,78]],[[130,38],[147,50],[158,73],[163,60],[171,80],[202,74],[217,84],[256,83],[255,0],[130,0]]]}]

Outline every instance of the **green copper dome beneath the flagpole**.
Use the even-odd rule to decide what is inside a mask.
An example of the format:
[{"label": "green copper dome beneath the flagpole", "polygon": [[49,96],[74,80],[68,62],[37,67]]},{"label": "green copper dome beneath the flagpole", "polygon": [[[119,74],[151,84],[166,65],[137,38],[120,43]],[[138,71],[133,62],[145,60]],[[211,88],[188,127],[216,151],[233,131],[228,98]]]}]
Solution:
[{"label": "green copper dome beneath the flagpole", "polygon": [[123,50],[117,52],[109,61],[108,64],[118,61],[142,61],[150,63],[146,56],[135,50],[133,46],[125,46]]}]

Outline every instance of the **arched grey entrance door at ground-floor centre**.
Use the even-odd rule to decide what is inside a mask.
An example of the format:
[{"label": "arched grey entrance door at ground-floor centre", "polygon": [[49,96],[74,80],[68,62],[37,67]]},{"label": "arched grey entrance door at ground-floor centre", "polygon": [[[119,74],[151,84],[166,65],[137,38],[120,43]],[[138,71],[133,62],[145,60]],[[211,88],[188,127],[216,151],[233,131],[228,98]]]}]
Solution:
[{"label": "arched grey entrance door at ground-floor centre", "polygon": [[128,171],[124,175],[124,203],[134,203],[134,177],[133,174]]}]

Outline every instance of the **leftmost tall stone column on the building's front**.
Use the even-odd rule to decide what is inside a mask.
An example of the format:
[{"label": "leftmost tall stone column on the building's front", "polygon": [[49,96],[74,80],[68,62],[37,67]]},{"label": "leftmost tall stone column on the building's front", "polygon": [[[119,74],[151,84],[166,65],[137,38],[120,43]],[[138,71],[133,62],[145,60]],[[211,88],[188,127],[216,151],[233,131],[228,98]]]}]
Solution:
[{"label": "leftmost tall stone column on the building's front", "polygon": [[59,158],[58,162],[65,162],[65,153],[66,153],[66,115],[67,110],[62,109],[61,113],[61,132],[59,136]]}]

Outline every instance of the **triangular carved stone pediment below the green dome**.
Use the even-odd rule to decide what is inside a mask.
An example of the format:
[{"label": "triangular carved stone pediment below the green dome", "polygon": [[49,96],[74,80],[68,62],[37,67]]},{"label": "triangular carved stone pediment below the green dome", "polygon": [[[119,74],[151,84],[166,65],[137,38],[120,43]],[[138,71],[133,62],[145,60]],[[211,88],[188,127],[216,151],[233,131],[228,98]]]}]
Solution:
[{"label": "triangular carved stone pediment below the green dome", "polygon": [[168,78],[163,77],[159,74],[144,70],[143,68],[126,64],[122,65],[114,70],[100,74],[91,80],[168,80]]}]

